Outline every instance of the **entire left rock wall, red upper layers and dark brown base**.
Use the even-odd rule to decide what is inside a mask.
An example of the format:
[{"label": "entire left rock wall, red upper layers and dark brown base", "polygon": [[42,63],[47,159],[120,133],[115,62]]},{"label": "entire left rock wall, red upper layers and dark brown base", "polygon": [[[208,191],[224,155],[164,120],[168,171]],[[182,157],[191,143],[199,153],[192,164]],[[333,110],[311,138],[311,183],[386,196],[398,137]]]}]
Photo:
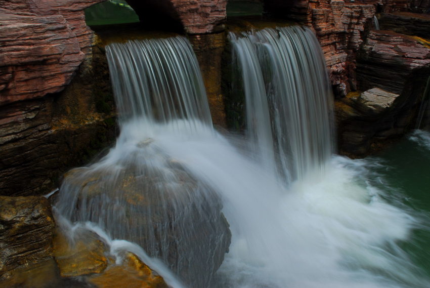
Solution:
[{"label": "entire left rock wall, red upper layers and dark brown base", "polygon": [[[0,1],[0,195],[49,192],[61,172],[111,138],[112,109],[98,105],[111,93],[109,74],[98,48],[90,65],[93,34],[83,18],[98,2]],[[79,67],[84,77],[59,94]]]}]

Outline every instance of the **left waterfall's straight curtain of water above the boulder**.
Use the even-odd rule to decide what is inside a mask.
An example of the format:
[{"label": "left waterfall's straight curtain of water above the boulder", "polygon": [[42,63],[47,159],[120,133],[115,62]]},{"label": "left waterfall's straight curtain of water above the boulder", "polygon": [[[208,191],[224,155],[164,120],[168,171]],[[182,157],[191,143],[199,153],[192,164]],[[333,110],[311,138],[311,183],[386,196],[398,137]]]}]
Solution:
[{"label": "left waterfall's straight curtain of water above the boulder", "polygon": [[211,125],[194,52],[182,37],[106,47],[120,124],[127,119]]}]

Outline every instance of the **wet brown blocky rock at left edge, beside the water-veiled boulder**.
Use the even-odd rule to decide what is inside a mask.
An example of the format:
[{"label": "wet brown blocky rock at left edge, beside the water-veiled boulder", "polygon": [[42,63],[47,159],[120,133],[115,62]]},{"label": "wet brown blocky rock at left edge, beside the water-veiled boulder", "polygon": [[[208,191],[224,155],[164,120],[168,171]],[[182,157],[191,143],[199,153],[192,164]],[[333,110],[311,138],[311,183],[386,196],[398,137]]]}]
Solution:
[{"label": "wet brown blocky rock at left edge, beside the water-veiled boulder", "polygon": [[54,218],[45,197],[0,196],[0,280],[52,257]]}]

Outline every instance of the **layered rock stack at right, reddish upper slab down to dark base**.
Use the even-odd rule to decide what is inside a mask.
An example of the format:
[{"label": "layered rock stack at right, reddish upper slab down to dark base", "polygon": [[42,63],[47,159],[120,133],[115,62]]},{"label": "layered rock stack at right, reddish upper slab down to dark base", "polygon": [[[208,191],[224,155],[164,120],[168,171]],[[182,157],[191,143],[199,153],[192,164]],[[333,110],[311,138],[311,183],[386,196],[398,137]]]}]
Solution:
[{"label": "layered rock stack at right, reddish upper slab down to dark base", "polygon": [[[371,90],[336,100],[340,152],[365,156],[413,129],[429,76],[430,49],[425,43],[392,31],[370,31],[357,57],[357,79],[359,90]],[[369,95],[372,100],[363,102]]]}]

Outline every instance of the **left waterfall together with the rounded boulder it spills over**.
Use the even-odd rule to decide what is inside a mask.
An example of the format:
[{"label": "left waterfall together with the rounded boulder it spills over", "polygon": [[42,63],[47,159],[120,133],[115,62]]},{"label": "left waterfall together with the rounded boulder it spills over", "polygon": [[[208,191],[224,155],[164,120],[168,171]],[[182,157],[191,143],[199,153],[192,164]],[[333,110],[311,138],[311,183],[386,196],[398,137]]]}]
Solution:
[{"label": "left waterfall together with the rounded boulder it spills over", "polygon": [[106,52],[121,133],[99,162],[66,173],[56,209],[139,244],[187,285],[207,286],[230,244],[221,198],[163,147],[214,133],[191,45],[149,39]]}]

